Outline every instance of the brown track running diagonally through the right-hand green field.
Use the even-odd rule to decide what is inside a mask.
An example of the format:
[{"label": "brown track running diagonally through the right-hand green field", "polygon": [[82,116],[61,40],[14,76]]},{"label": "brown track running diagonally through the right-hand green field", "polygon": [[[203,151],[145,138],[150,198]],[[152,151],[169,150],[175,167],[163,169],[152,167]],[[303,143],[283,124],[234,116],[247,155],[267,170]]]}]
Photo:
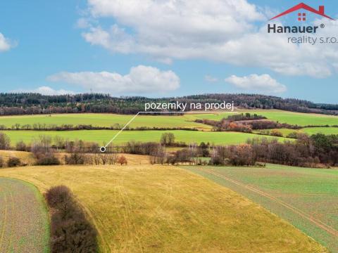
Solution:
[{"label": "brown track running diagonally through the right-hand green field", "polygon": [[204,171],[204,172],[206,172],[208,174],[213,174],[214,176],[218,176],[221,179],[225,179],[227,181],[235,183],[238,186],[242,186],[244,188],[247,188],[247,189],[253,191],[254,193],[257,193],[257,194],[262,195],[264,197],[268,197],[270,200],[273,200],[273,201],[277,202],[278,204],[280,204],[280,205],[282,205],[284,207],[287,207],[287,209],[292,210],[292,212],[298,214],[299,216],[303,217],[304,219],[307,219],[308,221],[311,221],[312,223],[315,223],[315,225],[319,226],[320,228],[323,228],[325,231],[327,231],[327,233],[330,233],[330,234],[334,235],[335,237],[338,237],[338,231],[335,230],[334,228],[332,228],[331,226],[327,225],[326,223],[323,223],[323,221],[320,221],[318,219],[313,218],[313,216],[311,216],[309,214],[306,214],[305,212],[297,209],[296,207],[293,207],[292,205],[287,204],[286,202],[284,202],[282,200],[278,200],[276,197],[273,197],[272,195],[270,195],[268,193],[265,193],[265,192],[263,192],[261,190],[253,188],[251,186],[247,186],[246,184],[241,183],[240,181],[236,181],[236,180],[231,179],[231,178],[229,178],[227,176],[223,176],[222,174],[218,174],[217,172],[213,171],[212,169],[210,171],[208,171],[206,169],[201,169],[201,168],[198,168],[198,169],[200,171]]}]

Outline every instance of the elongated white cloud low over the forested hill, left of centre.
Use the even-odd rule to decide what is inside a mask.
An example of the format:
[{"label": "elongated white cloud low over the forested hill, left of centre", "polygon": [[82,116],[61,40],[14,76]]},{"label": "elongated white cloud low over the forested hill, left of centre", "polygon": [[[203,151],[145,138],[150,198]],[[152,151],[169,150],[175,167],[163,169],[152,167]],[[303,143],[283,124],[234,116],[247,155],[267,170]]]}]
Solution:
[{"label": "elongated white cloud low over the forested hill, left of centre", "polygon": [[125,75],[115,72],[60,72],[47,79],[111,94],[161,93],[180,87],[180,78],[173,71],[161,71],[143,65],[132,67],[129,74]]}]

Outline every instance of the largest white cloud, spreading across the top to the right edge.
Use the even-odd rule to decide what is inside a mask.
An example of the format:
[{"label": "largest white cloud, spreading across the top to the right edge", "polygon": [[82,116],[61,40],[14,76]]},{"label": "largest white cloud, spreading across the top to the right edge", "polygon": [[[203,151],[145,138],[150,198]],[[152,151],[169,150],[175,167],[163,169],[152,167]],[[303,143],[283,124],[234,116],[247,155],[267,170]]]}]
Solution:
[{"label": "largest white cloud, spreading across the top to the right edge", "polygon": [[[338,63],[337,44],[289,44],[289,34],[268,34],[266,22],[257,25],[268,20],[265,13],[246,0],[88,0],[88,6],[91,18],[113,18],[116,24],[92,25],[82,36],[112,52],[142,53],[163,63],[213,60],[311,77],[330,76]],[[338,22],[315,22],[326,25],[318,37],[338,34]]]}]

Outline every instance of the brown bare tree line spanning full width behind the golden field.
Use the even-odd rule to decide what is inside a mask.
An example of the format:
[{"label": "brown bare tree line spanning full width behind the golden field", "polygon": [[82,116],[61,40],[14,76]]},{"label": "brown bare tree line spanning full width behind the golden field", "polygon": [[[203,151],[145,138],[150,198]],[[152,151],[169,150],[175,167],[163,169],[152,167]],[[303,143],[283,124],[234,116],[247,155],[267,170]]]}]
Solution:
[{"label": "brown bare tree line spanning full width behind the golden field", "polygon": [[[277,139],[253,138],[242,145],[211,145],[210,143],[176,143],[175,135],[164,133],[158,142],[142,143],[130,141],[110,150],[110,153],[100,153],[97,143],[85,141],[68,141],[56,138],[66,154],[65,164],[127,164],[127,159],[118,153],[149,155],[151,164],[206,164],[201,157],[209,157],[212,165],[253,166],[259,162],[285,164],[299,167],[334,167],[338,165],[338,135],[297,134],[294,141]],[[178,145],[177,145],[178,144]],[[167,152],[167,147],[181,146],[180,150]],[[49,136],[40,136],[27,147],[24,142],[16,145],[16,150],[30,150],[37,165],[60,164],[56,156],[58,148],[52,144]],[[10,140],[6,134],[0,133],[0,149],[10,149]],[[11,161],[18,166],[18,161]],[[21,164],[22,165],[22,164]],[[9,166],[9,165],[8,165]]]}]

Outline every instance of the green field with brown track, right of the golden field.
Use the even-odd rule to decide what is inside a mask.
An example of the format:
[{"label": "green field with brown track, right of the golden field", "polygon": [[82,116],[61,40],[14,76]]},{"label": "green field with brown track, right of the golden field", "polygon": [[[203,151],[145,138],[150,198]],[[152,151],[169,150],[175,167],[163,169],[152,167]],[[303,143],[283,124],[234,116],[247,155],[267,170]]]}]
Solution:
[{"label": "green field with brown track, right of the golden field", "polygon": [[184,168],[248,197],[338,252],[338,169]]}]

